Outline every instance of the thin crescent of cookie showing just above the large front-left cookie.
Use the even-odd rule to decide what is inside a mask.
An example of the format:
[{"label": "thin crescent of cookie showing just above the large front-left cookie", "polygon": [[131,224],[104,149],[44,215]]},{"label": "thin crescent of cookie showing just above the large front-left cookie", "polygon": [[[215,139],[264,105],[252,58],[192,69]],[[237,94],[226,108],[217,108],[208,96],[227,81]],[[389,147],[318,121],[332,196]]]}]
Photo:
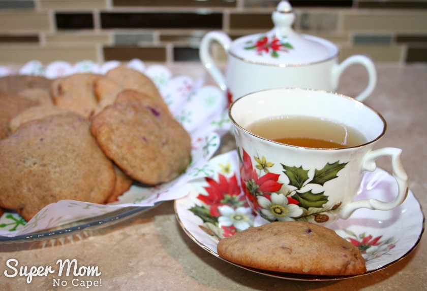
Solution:
[{"label": "thin crescent of cookie showing just above the large front-left cookie", "polygon": [[9,122],[9,132],[14,133],[21,124],[27,121],[42,119],[47,116],[64,114],[68,112],[70,111],[67,108],[58,107],[53,104],[29,107],[12,118],[12,120]]}]

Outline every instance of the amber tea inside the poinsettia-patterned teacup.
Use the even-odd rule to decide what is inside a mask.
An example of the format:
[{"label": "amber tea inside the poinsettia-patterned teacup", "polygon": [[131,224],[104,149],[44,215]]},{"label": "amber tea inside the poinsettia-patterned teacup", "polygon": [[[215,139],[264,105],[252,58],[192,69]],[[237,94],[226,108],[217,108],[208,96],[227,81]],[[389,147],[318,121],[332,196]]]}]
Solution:
[{"label": "amber tea inside the poinsettia-patterned teacup", "polygon": [[366,142],[354,128],[314,117],[271,117],[254,122],[247,129],[261,137],[304,148],[339,149]]}]

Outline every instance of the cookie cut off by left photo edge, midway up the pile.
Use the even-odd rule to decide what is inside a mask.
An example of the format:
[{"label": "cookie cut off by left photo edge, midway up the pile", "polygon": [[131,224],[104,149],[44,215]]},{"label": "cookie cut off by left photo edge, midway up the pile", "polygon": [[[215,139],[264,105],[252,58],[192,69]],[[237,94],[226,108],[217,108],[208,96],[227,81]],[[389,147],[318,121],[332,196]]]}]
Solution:
[{"label": "cookie cut off by left photo edge, midway up the pile", "polygon": [[0,94],[0,139],[9,136],[9,123],[22,111],[39,105],[38,101],[24,97]]}]

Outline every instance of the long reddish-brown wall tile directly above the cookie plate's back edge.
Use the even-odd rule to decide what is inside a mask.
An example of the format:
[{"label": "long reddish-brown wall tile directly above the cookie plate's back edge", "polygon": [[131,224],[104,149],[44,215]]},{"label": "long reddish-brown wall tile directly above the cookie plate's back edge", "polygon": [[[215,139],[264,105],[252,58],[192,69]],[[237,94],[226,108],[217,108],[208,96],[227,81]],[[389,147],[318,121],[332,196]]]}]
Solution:
[{"label": "long reddish-brown wall tile directly above the cookie plate's back edge", "polygon": [[136,47],[136,46],[114,46],[104,47],[104,60],[130,61],[138,58],[143,61],[166,61],[165,47]]}]

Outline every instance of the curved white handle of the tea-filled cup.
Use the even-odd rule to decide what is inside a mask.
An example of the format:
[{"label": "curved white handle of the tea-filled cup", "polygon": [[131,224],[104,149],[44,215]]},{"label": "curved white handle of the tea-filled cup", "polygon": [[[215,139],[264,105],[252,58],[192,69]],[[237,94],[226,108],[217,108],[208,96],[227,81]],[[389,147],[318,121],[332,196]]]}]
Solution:
[{"label": "curved white handle of the tea-filled cup", "polygon": [[401,162],[401,149],[396,148],[382,148],[369,152],[362,161],[362,171],[374,171],[377,168],[375,161],[384,156],[388,156],[391,159],[391,168],[393,177],[398,182],[398,195],[391,202],[384,202],[374,198],[356,200],[348,204],[344,210],[341,212],[342,219],[348,219],[348,217],[353,213],[354,210],[358,208],[369,208],[377,210],[391,210],[395,207],[398,207],[408,195],[408,176],[403,168]]}]

